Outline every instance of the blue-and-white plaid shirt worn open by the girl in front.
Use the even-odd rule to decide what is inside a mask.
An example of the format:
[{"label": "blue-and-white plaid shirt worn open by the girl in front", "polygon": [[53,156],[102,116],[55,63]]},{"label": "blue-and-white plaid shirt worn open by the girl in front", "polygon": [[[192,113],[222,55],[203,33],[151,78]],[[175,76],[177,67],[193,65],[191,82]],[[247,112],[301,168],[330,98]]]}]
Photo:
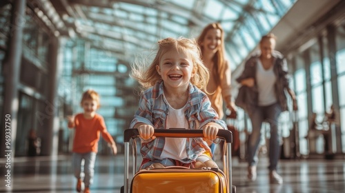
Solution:
[{"label": "blue-and-white plaid shirt worn open by the girl in front", "polygon": [[[218,119],[218,114],[211,108],[211,103],[204,92],[190,83],[189,99],[186,104],[184,115],[188,120],[190,130],[197,130],[207,123],[214,122],[226,130],[226,123]],[[146,90],[139,100],[139,109],[135,118],[130,123],[133,128],[137,123],[152,125],[155,129],[166,129],[166,116],[168,115],[168,103],[163,96],[163,82],[156,83],[152,88]],[[145,159],[161,159],[161,152],[164,148],[164,137],[157,137],[155,140],[141,141],[141,155]],[[195,161],[205,151],[210,151],[207,143],[201,138],[187,139],[186,151],[188,158],[181,160],[183,163]]]}]

